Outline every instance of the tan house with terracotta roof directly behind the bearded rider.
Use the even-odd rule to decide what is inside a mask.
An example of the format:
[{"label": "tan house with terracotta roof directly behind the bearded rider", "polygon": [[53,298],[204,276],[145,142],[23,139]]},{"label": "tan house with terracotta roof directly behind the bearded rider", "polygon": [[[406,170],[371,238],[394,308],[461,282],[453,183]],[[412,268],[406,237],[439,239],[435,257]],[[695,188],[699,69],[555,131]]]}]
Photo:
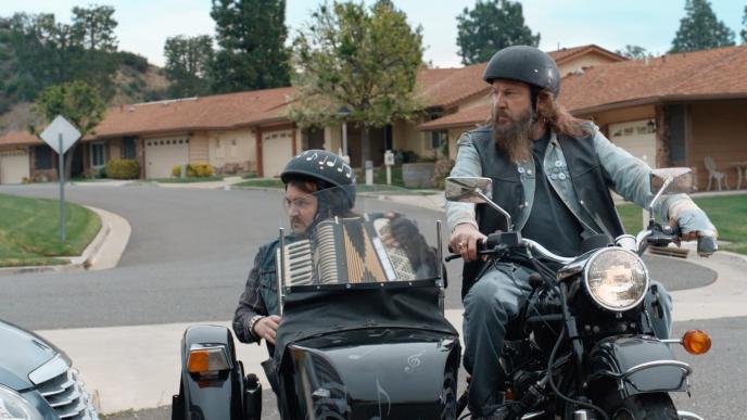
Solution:
[{"label": "tan house with terracotta roof directly behind the bearded rider", "polygon": [[[744,75],[747,46],[597,63],[562,77],[559,102],[653,167],[693,167],[701,187],[708,182],[704,158],[711,156],[733,188],[736,165],[747,166]],[[418,128],[448,130],[454,144],[489,115],[489,101],[460,104]],[[454,156],[456,148],[450,150]]]}]

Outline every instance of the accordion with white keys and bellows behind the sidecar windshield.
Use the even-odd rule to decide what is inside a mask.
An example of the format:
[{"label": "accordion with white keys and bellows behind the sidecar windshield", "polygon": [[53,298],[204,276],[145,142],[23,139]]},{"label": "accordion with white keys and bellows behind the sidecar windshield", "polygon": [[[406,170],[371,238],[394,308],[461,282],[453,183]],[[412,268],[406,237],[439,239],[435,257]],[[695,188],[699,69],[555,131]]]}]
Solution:
[{"label": "accordion with white keys and bellows behind the sidecar windshield", "polygon": [[277,266],[287,287],[410,281],[417,273],[407,253],[387,244],[390,218],[360,217],[320,221],[311,239],[284,246]]}]

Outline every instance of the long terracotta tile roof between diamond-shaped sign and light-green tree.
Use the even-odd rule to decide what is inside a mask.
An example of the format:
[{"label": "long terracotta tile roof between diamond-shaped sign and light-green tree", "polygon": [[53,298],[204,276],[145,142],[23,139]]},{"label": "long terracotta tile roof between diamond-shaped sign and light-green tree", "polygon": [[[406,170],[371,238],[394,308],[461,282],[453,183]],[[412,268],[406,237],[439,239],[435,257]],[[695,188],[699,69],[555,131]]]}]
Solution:
[{"label": "long terracotta tile roof between diamond-shaped sign and light-green tree", "polygon": [[281,107],[293,88],[114,106],[88,138],[251,126]]}]

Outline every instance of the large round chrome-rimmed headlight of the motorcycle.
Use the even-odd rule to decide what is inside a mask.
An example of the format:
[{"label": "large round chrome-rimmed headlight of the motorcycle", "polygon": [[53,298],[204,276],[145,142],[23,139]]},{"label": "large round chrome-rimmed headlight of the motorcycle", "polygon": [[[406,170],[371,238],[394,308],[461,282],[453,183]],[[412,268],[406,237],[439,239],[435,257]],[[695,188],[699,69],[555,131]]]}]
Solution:
[{"label": "large round chrome-rimmed headlight of the motorcycle", "polygon": [[619,247],[607,247],[590,258],[584,282],[597,305],[624,311],[637,306],[646,296],[648,270],[636,254]]}]

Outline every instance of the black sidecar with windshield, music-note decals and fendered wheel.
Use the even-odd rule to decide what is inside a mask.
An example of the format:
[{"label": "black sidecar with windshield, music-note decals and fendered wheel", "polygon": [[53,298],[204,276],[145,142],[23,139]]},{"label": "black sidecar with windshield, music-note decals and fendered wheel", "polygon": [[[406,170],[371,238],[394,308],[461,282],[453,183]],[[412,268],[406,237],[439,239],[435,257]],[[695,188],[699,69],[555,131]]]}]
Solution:
[{"label": "black sidecar with windshield, music-note decals and fendered wheel", "polygon": [[[335,190],[314,194],[318,212],[334,208]],[[404,191],[358,187],[354,209],[302,236],[280,229],[282,322],[263,367],[283,419],[456,418],[460,345],[444,318],[440,221],[421,233],[408,216],[420,209],[380,200]],[[261,413],[258,377],[237,360],[231,332],[188,328],[172,418]]]}]

